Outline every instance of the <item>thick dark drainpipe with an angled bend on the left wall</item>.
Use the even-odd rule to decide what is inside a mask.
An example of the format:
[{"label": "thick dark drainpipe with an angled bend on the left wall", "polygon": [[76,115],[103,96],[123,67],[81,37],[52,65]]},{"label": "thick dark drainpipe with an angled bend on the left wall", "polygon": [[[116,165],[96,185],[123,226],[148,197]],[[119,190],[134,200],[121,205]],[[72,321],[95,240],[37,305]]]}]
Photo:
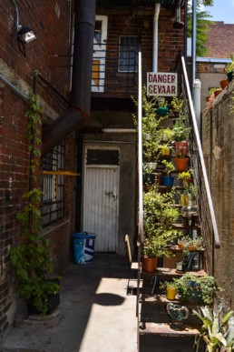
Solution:
[{"label": "thick dark drainpipe with an angled bend on the left wall", "polygon": [[65,136],[77,131],[90,116],[92,90],[93,35],[96,0],[74,2],[73,79],[71,106],[63,116],[44,127],[42,155]]}]

